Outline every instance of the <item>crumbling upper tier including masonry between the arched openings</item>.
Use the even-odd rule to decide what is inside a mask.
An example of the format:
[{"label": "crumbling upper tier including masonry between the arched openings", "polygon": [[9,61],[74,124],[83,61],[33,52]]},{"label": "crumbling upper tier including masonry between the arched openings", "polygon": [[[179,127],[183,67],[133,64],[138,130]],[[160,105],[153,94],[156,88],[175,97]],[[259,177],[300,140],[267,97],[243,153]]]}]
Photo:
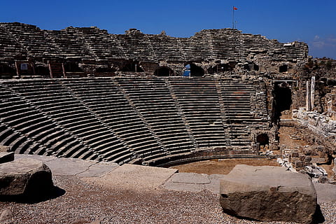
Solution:
[{"label": "crumbling upper tier including masonry between the arched openings", "polygon": [[1,64],[12,68],[18,59],[44,64],[74,62],[85,73],[97,68],[125,71],[130,63],[150,75],[155,66],[169,66],[181,75],[188,63],[197,64],[205,73],[214,73],[211,69],[218,64],[235,71],[246,72],[253,65],[256,71],[279,73],[280,66],[291,72],[307,59],[305,43],[279,43],[237,29],[204,29],[190,38],[176,38],[137,29],[125,34],[109,34],[97,27],[52,31],[12,22],[0,23],[0,45]]}]

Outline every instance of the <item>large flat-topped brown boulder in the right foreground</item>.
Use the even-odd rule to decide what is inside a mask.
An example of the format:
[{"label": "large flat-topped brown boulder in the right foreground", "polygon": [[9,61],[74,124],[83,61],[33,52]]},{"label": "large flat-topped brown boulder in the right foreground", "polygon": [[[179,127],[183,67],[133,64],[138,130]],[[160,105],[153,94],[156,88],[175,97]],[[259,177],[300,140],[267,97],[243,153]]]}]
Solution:
[{"label": "large flat-topped brown boulder in the right foreground", "polygon": [[237,165],[221,180],[220,203],[233,216],[311,223],[316,190],[308,175],[284,167]]}]

